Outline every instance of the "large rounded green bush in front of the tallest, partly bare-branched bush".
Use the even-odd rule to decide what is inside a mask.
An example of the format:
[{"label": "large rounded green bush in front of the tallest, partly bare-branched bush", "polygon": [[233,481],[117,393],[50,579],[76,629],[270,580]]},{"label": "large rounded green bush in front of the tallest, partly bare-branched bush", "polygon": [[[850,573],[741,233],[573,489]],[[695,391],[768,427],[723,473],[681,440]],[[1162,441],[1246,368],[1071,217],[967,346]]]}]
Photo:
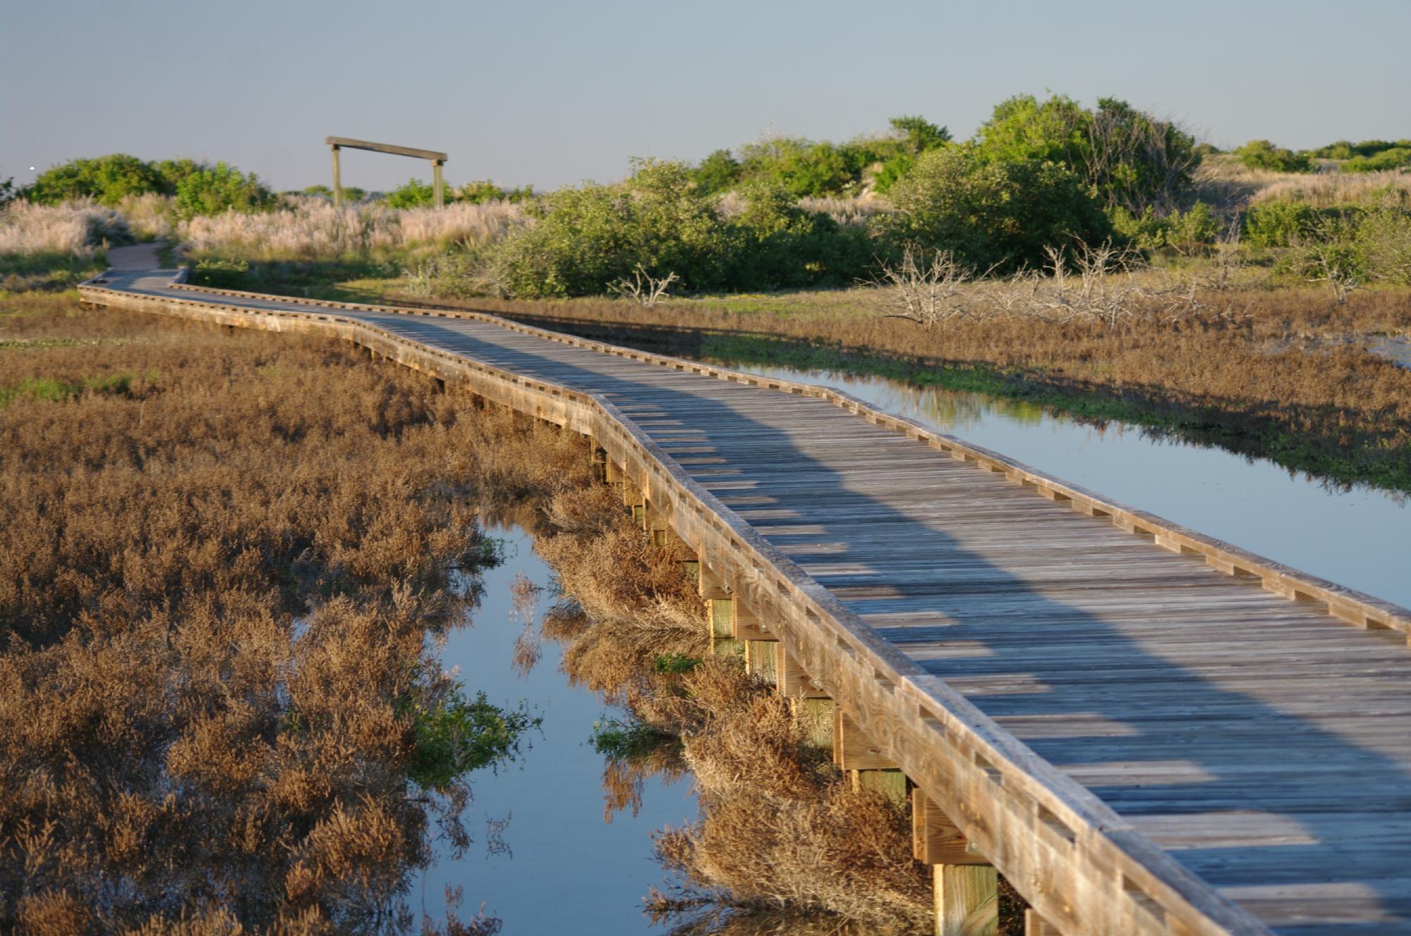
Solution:
[{"label": "large rounded green bush in front of the tallest, partly bare-branched bush", "polygon": [[1113,235],[1092,190],[1068,166],[1038,159],[986,161],[974,147],[933,149],[892,190],[880,216],[893,244],[948,250],[976,269],[1009,272],[1046,261],[1044,247]]}]

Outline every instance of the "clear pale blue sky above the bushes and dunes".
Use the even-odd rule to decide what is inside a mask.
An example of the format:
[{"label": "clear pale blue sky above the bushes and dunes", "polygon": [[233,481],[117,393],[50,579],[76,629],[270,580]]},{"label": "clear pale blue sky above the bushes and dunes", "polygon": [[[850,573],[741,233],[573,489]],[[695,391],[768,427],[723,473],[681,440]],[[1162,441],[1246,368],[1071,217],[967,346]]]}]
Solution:
[{"label": "clear pale blue sky above the bushes and dunes", "polygon": [[[1398,138],[1408,37],[1411,0],[6,0],[0,178],[124,151],[302,187],[327,182],[334,134],[444,149],[457,183],[553,187],[903,113],[964,138],[1046,89],[1219,145]],[[346,152],[343,179],[387,189],[423,166]]]}]

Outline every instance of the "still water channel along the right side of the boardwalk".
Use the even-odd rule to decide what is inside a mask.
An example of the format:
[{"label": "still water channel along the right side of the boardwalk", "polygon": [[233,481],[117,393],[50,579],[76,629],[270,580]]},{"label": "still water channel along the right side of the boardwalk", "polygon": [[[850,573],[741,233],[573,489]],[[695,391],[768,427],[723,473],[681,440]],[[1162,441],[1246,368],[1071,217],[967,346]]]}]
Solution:
[{"label": "still water channel along the right side of the boardwalk", "polygon": [[1271,461],[1161,438],[1141,427],[1085,426],[981,393],[718,364],[845,390],[1112,500],[1411,608],[1411,506],[1403,495],[1367,486],[1338,491]]}]

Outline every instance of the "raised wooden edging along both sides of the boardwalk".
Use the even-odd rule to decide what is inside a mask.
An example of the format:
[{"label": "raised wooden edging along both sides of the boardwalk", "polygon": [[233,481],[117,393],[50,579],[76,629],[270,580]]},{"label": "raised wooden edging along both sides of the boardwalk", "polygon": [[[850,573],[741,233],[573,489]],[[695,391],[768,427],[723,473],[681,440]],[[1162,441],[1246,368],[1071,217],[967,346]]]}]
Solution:
[{"label": "raised wooden edging along both sides of the boardwalk", "polygon": [[[319,312],[248,309],[178,296],[151,296],[104,288],[104,278],[80,283],[80,296],[178,317],[264,327],[274,331],[332,333],[440,378],[464,376],[474,392],[593,436],[624,462],[626,476],[648,493],[677,533],[707,555],[734,564],[734,591],[756,613],[779,622],[806,671],[827,686],[859,727],[957,822],[991,861],[1012,880],[1036,911],[1065,933],[1237,933],[1270,930],[1133,830],[1112,808],[1075,780],[1034,754],[943,679],[885,641],[823,585],[769,544],[748,522],[722,505],[666,454],[611,400],[539,379],[522,378],[461,354],[429,348],[375,324]],[[1411,630],[1411,612],[1302,575],[1229,544],[1201,537],[1151,515],[1106,502],[1091,492],[1034,472],[1019,462],[967,445],[910,420],[880,413],[845,393],[790,381],[744,375],[680,358],[617,348],[521,326],[485,313],[440,313],[356,303],[326,303],[236,290],[174,290],[275,300],[334,312],[466,317],[583,348],[689,369],[696,374],[807,393],[832,402],[879,426],[1003,472],[1050,499],[1072,500],[1092,516],[1141,533],[1173,551],[1198,553],[1228,574],[1259,577],[1285,598],[1328,603],[1340,617],[1373,627]],[[388,354],[391,352],[391,354]],[[1127,526],[1130,524],[1130,526]],[[1218,561],[1211,561],[1211,558]],[[1360,615],[1360,620],[1356,616]]]}]

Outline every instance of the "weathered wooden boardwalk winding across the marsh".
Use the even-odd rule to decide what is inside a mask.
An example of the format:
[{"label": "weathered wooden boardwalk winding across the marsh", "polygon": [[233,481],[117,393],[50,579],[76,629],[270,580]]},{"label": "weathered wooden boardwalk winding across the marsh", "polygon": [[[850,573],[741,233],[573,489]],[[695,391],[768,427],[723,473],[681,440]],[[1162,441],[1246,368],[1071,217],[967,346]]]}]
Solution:
[{"label": "weathered wooden boardwalk winding across the marsh", "polygon": [[605,413],[595,438],[703,550],[721,595],[1061,932],[1411,933],[1411,612],[1000,460],[979,457],[983,471],[896,420],[693,365],[485,319],[176,290],[141,271],[85,297],[216,303],[185,312],[237,323],[312,312],[327,324],[299,327],[401,340],[370,344],[381,354],[429,348],[574,390],[505,399],[580,431]]}]

